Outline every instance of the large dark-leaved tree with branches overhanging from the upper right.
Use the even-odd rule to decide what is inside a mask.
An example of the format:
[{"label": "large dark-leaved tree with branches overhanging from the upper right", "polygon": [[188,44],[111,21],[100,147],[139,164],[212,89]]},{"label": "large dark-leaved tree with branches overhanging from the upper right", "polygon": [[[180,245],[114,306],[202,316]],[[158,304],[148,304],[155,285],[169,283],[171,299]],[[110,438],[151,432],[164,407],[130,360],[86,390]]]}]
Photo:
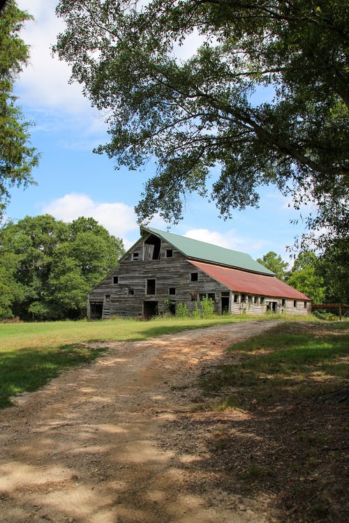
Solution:
[{"label": "large dark-leaved tree with branches overhanging from the upper right", "polygon": [[106,115],[96,151],[131,169],[157,160],[140,221],[176,222],[193,191],[230,217],[273,183],[312,204],[327,243],[346,234],[348,1],[61,0],[57,13],[54,49]]}]

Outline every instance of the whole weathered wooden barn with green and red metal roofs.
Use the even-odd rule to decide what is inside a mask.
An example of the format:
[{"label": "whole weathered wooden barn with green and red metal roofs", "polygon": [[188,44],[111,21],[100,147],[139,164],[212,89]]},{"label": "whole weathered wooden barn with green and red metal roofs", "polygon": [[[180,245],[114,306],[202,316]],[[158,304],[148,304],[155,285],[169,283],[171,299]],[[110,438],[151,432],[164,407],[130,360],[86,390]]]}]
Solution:
[{"label": "whole weathered wooden barn with green and red metal roofs", "polygon": [[308,314],[311,299],[243,252],[225,249],[151,227],[119,266],[89,294],[91,319],[150,318],[175,312],[186,303],[189,312],[202,296],[212,298],[223,314],[287,312]]}]

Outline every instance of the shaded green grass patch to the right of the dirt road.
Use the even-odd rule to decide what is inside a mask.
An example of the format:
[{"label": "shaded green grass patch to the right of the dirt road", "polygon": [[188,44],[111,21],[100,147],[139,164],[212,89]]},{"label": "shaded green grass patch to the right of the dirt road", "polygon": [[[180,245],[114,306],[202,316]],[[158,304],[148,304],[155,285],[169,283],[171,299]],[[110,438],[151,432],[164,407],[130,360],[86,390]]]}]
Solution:
[{"label": "shaded green grass patch to the right of the dirt road", "polygon": [[230,347],[234,362],[202,376],[201,386],[207,393],[234,388],[232,395],[215,405],[215,409],[225,410],[242,407],[242,403],[246,407],[251,400],[260,403],[281,396],[318,395],[341,386],[348,378],[348,363],[343,359],[349,353],[348,335],[341,333],[343,324],[327,324],[326,329],[322,335],[283,324],[236,343]]}]

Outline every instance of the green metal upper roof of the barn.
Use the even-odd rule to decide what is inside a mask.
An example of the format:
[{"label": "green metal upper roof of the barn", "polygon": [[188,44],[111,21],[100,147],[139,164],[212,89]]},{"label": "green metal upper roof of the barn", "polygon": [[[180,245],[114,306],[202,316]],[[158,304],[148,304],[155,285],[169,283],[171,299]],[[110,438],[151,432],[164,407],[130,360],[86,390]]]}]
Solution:
[{"label": "green metal upper roof of the barn", "polygon": [[153,229],[152,227],[141,227],[140,232],[141,234],[142,232],[149,232],[160,236],[163,240],[182,252],[187,258],[211,261],[215,264],[242,268],[245,271],[252,271],[254,273],[274,275],[272,271],[269,271],[269,268],[259,264],[258,261],[255,261],[250,255],[246,255],[244,252],[225,249],[218,247],[218,245],[206,243],[205,241],[193,240],[192,238],[186,238],[186,236],[179,236],[178,234],[172,234],[172,232],[163,232],[159,229]]}]

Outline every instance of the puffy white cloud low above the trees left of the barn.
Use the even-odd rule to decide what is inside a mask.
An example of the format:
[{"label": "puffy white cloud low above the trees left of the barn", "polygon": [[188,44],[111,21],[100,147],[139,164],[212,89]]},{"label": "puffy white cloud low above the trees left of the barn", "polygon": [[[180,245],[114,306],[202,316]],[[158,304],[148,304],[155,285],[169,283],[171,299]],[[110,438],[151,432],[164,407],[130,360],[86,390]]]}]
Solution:
[{"label": "puffy white cloud low above the trees left of the barn", "polygon": [[64,222],[72,222],[80,216],[94,218],[110,234],[122,238],[126,248],[131,247],[134,242],[126,238],[127,234],[130,234],[131,238],[138,237],[138,225],[133,207],[120,202],[105,204],[94,202],[87,195],[70,193],[45,205],[42,212]]}]

